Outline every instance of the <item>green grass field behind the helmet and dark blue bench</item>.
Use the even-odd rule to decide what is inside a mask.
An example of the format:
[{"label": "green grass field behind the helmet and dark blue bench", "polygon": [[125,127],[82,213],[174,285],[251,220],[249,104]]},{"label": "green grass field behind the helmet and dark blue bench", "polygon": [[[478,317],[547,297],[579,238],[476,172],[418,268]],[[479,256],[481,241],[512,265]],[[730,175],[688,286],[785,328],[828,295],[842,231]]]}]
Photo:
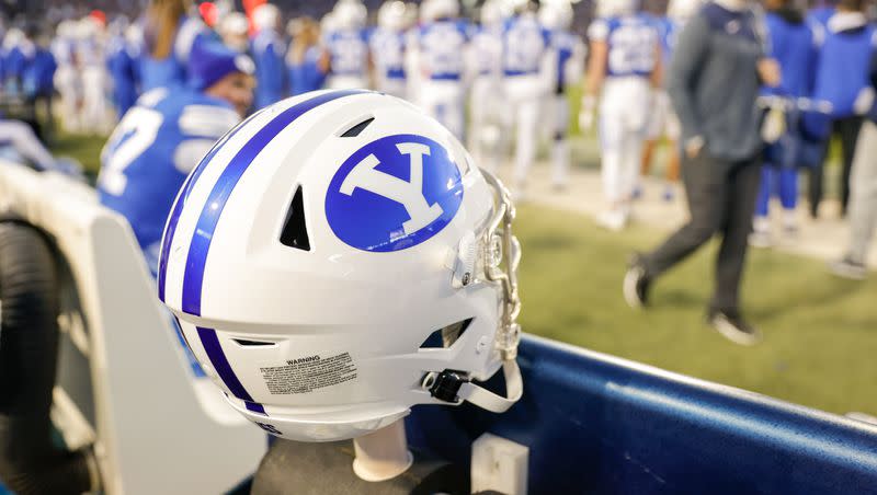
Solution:
[{"label": "green grass field behind the helmet and dark blue bench", "polygon": [[[61,135],[54,151],[95,173],[102,145]],[[704,323],[715,245],[662,278],[652,309],[636,312],[620,296],[625,263],[662,233],[610,233],[537,206],[519,211],[524,331],[834,413],[877,415],[877,280],[840,280],[820,262],[753,252],[743,301],[764,342],[745,348]]]}]

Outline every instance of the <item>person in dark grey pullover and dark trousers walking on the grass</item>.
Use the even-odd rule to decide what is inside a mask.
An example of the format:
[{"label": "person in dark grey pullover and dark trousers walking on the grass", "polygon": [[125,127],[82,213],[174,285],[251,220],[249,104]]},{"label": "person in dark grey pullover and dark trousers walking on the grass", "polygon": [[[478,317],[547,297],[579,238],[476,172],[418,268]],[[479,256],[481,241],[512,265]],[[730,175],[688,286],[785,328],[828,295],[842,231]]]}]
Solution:
[{"label": "person in dark grey pullover and dark trousers walking on the grass", "polygon": [[760,336],[740,314],[739,287],[761,176],[762,84],[781,82],[765,56],[764,34],[748,0],[715,0],[686,24],[668,73],[668,91],[682,124],[682,177],[691,219],[662,245],[631,260],[624,279],[628,304],[647,304],[652,281],[721,234],[716,291],[707,321],[730,341]]}]

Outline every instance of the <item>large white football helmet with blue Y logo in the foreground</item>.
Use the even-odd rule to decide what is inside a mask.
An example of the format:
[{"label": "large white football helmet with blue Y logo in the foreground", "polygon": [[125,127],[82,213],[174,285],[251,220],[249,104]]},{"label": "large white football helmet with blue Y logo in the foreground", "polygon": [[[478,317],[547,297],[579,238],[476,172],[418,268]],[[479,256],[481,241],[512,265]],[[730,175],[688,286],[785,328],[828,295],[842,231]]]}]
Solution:
[{"label": "large white football helmet with blue Y logo in the foreground", "polygon": [[[192,172],[159,298],[228,402],[272,435],[353,438],[415,404],[520,396],[508,191],[415,106],[319,91],[257,113]],[[508,398],[476,385],[503,368]]]}]

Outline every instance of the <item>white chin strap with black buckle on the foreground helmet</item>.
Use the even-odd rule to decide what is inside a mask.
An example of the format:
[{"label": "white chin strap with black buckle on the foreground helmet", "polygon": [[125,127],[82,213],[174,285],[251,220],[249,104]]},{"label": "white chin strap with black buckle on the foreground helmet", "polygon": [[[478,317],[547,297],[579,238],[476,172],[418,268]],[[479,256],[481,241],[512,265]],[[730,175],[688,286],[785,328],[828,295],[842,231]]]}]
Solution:
[{"label": "white chin strap with black buckle on the foreground helmet", "polygon": [[423,388],[440,401],[460,404],[463,401],[493,412],[504,413],[521,399],[524,392],[524,381],[521,379],[521,369],[514,359],[502,365],[505,376],[505,394],[498,395],[485,388],[472,383],[466,376],[457,371],[444,370],[441,373],[429,373],[423,380]]}]

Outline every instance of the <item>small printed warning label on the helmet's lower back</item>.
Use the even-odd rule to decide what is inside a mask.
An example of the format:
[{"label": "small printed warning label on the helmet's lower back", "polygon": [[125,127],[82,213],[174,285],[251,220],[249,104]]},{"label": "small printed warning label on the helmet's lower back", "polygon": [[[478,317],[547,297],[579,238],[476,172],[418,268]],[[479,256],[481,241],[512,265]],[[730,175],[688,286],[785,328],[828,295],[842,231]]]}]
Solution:
[{"label": "small printed warning label on the helmet's lower back", "polygon": [[356,367],[350,353],[326,358],[320,355],[305,356],[289,359],[283,366],[259,369],[273,395],[310,393],[356,378]]}]

